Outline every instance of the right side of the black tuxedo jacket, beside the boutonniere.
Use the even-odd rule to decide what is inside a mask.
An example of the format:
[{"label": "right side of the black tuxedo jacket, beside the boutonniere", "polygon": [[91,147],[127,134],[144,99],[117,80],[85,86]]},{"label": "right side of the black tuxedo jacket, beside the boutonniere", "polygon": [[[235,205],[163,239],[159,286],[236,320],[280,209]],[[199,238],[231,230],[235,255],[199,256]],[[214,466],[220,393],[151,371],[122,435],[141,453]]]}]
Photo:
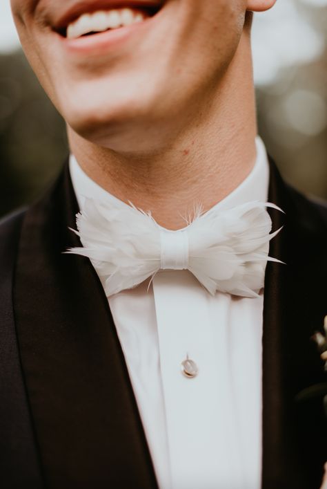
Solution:
[{"label": "right side of the black tuxedo jacket, beside the boutonniere", "polygon": [[[326,421],[321,399],[300,405],[295,396],[324,380],[311,335],[327,313],[326,225],[314,205],[281,181],[270,165],[274,228],[268,264],[263,338],[264,489],[319,488],[327,460]],[[326,459],[325,459],[326,457]]]}]

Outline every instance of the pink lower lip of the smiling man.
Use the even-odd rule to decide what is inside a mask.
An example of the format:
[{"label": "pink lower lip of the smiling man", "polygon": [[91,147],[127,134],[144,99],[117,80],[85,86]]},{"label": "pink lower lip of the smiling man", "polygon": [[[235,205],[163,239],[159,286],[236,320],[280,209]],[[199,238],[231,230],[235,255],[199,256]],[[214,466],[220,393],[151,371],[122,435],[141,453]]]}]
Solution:
[{"label": "pink lower lip of the smiling man", "polygon": [[146,20],[137,22],[136,24],[130,24],[129,26],[120,27],[117,29],[106,30],[104,33],[93,34],[85,37],[78,37],[77,39],[68,39],[61,37],[63,44],[70,53],[81,55],[102,54],[108,52],[110,48],[117,48],[124,42],[128,41],[130,37],[135,35],[142,35],[148,28],[151,27],[155,18],[149,17]]}]

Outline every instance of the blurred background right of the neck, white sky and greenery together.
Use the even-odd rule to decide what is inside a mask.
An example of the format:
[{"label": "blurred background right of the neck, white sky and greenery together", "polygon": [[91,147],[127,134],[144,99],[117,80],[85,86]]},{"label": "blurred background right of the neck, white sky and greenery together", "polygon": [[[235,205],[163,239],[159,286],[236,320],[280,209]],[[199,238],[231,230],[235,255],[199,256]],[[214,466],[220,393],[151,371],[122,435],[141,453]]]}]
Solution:
[{"label": "blurred background right of the neck, white sky and greenery together", "polygon": [[279,65],[257,88],[259,132],[286,180],[327,199],[327,0],[282,0],[257,21],[261,77]]}]

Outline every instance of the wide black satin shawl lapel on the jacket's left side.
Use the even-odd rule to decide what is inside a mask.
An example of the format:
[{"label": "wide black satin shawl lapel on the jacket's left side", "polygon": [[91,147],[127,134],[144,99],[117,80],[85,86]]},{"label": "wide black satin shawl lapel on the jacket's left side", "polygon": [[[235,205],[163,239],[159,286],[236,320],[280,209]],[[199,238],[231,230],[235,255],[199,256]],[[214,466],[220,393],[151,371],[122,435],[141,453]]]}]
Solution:
[{"label": "wide black satin shawl lapel on the jacket's left side", "polygon": [[157,486],[108,301],[80,243],[68,168],[28,212],[14,288],[23,371],[49,488]]}]

